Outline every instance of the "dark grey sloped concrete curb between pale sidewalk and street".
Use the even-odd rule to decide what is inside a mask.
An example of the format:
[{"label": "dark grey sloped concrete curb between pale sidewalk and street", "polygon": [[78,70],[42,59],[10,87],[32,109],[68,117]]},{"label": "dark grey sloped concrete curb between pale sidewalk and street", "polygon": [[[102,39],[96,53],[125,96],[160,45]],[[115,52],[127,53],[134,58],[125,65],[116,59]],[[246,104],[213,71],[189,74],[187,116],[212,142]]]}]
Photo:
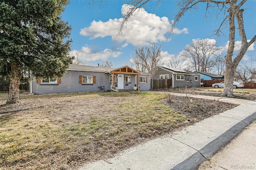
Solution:
[{"label": "dark grey sloped concrete curb between pale sidewalk and street", "polygon": [[202,162],[208,160],[216,154],[222,147],[226,146],[233,138],[235,138],[245,127],[256,120],[256,112],[246,117],[222,135],[212,140],[204,148],[197,151],[195,154],[174,166],[171,170],[197,170]]}]

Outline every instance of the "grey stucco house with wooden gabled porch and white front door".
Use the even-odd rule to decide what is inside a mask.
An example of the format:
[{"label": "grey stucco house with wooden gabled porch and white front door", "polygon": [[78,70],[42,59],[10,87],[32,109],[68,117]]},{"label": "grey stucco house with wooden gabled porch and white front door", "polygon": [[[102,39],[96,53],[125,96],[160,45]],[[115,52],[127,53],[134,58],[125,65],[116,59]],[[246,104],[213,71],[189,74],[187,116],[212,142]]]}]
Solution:
[{"label": "grey stucco house with wooden gabled porch and white front door", "polygon": [[70,64],[64,77],[42,80],[33,79],[30,93],[73,93],[110,91],[117,84],[119,90],[132,90],[134,85],[141,91],[150,90],[150,74],[140,73],[128,66],[119,68],[95,67]]}]

